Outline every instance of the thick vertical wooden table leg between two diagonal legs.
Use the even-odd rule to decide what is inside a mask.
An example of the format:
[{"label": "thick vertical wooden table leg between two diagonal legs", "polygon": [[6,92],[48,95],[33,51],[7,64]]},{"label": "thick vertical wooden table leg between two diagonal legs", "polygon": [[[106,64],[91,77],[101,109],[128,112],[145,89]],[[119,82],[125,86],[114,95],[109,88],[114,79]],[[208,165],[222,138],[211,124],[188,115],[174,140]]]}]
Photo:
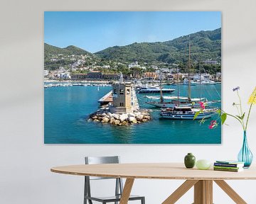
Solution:
[{"label": "thick vertical wooden table leg between two diagonal legs", "polygon": [[195,184],[194,204],[213,204],[213,181],[200,180]]}]

